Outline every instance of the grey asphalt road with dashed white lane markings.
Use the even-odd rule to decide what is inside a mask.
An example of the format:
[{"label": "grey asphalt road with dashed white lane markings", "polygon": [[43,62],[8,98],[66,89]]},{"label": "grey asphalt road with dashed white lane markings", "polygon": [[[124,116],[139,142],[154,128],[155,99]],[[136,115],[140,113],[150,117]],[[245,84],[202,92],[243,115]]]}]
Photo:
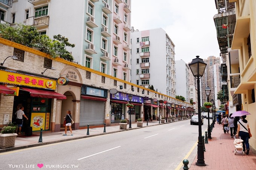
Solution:
[{"label": "grey asphalt road with dashed white lane markings", "polygon": [[5,152],[0,169],[174,170],[197,139],[188,119]]}]

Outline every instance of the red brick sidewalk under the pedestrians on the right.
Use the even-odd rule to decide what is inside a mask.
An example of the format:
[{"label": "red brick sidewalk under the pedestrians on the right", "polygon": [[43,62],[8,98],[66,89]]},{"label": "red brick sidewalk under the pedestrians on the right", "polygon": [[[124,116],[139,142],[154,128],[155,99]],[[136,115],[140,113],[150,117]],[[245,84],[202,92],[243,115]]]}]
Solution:
[{"label": "red brick sidewalk under the pedestrians on the right", "polygon": [[[204,129],[202,129],[203,131]],[[206,166],[198,166],[197,155],[194,160],[189,160],[189,170],[255,170],[256,151],[250,147],[249,155],[235,155],[235,138],[231,138],[230,133],[224,134],[222,125],[215,123],[212,129],[212,139],[205,143],[204,162]],[[250,144],[250,140],[249,140]],[[197,146],[195,147],[197,149]]]}]

